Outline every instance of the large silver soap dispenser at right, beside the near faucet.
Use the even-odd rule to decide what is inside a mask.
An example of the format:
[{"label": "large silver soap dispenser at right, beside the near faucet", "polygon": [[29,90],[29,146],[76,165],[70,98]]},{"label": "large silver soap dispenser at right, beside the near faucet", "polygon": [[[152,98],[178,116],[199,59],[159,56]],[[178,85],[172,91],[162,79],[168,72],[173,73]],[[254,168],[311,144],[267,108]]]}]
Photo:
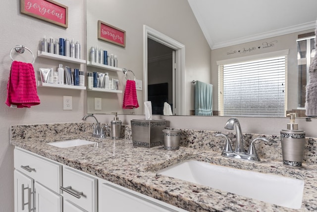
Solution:
[{"label": "large silver soap dispenser at right, beside the near faucet", "polygon": [[298,124],[295,123],[296,113],[289,113],[287,116],[290,117],[287,130],[281,130],[280,132],[283,163],[293,167],[300,167],[303,162],[305,132],[298,130]]}]

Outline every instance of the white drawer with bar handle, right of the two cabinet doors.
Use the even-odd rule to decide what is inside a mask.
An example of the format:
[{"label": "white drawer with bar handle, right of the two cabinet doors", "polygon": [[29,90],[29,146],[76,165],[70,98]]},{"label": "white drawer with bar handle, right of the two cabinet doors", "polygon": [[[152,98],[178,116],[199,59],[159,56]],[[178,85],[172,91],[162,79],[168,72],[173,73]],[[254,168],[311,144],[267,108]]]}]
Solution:
[{"label": "white drawer with bar handle, right of the two cabinet doors", "polygon": [[[74,169],[63,167],[64,201],[69,200],[89,212],[97,212],[97,179]],[[82,194],[80,194],[82,192]],[[78,194],[78,195],[77,195]],[[75,197],[78,196],[78,197]]]}]

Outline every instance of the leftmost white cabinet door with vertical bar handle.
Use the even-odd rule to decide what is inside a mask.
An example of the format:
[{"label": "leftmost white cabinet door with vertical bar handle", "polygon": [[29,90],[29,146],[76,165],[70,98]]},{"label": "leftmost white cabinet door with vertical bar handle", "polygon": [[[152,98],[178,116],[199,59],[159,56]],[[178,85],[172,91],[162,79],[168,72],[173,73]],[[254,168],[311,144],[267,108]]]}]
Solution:
[{"label": "leftmost white cabinet door with vertical bar handle", "polygon": [[30,194],[33,191],[34,180],[14,170],[14,212],[28,212],[29,207],[34,208],[33,194]]}]

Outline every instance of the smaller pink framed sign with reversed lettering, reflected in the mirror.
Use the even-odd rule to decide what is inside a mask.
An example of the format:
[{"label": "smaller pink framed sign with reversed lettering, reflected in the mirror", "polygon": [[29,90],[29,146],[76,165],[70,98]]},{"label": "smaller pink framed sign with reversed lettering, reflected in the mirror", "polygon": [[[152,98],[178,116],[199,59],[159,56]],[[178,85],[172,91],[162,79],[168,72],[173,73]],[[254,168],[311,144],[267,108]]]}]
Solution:
[{"label": "smaller pink framed sign with reversed lettering, reflected in the mirror", "polygon": [[98,21],[98,39],[125,47],[125,31],[101,20]]}]

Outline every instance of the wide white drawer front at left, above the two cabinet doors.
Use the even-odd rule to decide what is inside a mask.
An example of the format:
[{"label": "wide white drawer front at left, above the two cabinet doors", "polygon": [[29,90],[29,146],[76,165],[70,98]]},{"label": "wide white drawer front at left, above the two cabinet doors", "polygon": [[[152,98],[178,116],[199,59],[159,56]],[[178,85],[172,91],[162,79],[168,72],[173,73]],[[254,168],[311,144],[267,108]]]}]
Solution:
[{"label": "wide white drawer front at left, above the two cabinet doors", "polygon": [[[23,168],[24,167],[24,168]],[[14,149],[14,168],[60,193],[62,166],[35,154]]]}]

